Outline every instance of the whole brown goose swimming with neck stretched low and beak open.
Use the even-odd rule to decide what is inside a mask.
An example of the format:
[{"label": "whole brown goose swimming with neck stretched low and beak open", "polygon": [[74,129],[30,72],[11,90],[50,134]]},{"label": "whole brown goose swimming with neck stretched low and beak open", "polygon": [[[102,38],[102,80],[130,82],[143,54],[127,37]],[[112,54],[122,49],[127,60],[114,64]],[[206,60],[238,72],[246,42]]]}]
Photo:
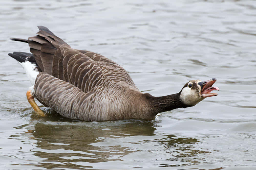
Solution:
[{"label": "whole brown goose swimming with neck stretched low and beak open", "polygon": [[27,100],[40,116],[46,116],[34,101],[36,98],[60,115],[84,121],[123,119],[153,120],[158,113],[196,105],[207,97],[216,78],[191,80],[180,92],[155,97],[142,93],[128,72],[112,60],[87,50],[76,50],[48,28],[28,39],[11,38],[28,43],[30,52],[8,55],[24,68],[33,85]]}]

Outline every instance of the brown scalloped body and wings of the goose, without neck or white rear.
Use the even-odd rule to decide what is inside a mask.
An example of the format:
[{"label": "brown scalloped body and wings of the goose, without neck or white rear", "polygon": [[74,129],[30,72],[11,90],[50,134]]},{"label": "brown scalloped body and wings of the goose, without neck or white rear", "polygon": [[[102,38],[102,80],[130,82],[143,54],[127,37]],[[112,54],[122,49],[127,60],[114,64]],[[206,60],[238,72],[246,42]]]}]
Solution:
[{"label": "brown scalloped body and wings of the goose, without neck or white rear", "polygon": [[71,48],[46,27],[38,28],[38,35],[28,40],[12,40],[27,42],[42,70],[33,94],[39,102],[72,119],[145,119],[138,113],[149,113],[148,108],[133,104],[145,96],[125,69],[100,54]]}]

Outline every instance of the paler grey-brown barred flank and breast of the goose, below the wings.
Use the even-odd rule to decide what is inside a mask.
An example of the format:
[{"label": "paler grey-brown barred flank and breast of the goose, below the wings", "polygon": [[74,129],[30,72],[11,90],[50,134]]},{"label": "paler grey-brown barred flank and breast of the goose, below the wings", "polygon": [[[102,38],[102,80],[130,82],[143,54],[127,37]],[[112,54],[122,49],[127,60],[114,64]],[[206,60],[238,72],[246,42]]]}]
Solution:
[{"label": "paler grey-brown barred flank and breast of the goose, below the wings", "polygon": [[[133,102],[143,98],[142,95],[134,97],[127,88],[108,87],[88,87],[88,92],[83,92],[66,81],[40,72],[34,86],[34,96],[39,102],[71,119],[85,121],[121,120],[131,117],[145,119],[145,115],[139,113],[145,113],[147,110],[144,107],[135,108],[133,105]],[[153,117],[151,114],[148,115],[149,119]]]}]

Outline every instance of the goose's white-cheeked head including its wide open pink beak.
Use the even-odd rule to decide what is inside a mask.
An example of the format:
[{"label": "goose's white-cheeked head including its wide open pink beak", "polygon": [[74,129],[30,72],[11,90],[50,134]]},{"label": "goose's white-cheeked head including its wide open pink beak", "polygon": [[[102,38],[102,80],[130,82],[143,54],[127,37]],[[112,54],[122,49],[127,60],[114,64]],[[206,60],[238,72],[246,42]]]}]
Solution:
[{"label": "goose's white-cheeked head including its wide open pink beak", "polygon": [[220,90],[218,87],[212,87],[216,81],[216,78],[207,81],[191,80],[179,92],[179,98],[185,105],[194,106],[207,97],[217,96],[217,93],[211,93],[212,90]]}]

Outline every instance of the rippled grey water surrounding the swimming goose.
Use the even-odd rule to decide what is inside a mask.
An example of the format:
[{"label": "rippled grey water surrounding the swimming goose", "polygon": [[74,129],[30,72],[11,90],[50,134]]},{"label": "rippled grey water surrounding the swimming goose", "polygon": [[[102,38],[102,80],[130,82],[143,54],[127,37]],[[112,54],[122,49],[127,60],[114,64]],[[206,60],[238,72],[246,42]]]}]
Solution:
[{"label": "rippled grey water surrounding the swimming goose", "polygon": [[[1,169],[256,168],[255,1],[1,1]],[[76,49],[114,60],[137,87],[173,94],[193,79],[217,78],[219,95],[159,120],[80,122],[37,117],[23,69],[47,26]]]}]

